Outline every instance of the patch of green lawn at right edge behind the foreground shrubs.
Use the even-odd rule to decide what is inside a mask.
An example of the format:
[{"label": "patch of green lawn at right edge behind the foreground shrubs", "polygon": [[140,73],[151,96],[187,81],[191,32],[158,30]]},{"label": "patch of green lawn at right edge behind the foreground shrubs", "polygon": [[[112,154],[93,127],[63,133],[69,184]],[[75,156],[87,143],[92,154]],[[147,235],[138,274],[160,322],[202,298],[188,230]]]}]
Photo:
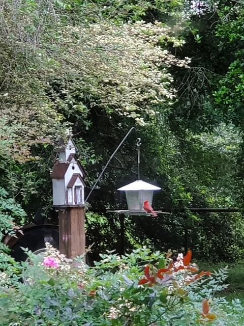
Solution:
[{"label": "patch of green lawn at right edge behind the foreground shrubs", "polygon": [[225,292],[220,293],[226,297],[228,301],[234,298],[238,298],[244,303],[244,261],[239,261],[237,263],[225,263],[220,262],[216,264],[208,263],[206,261],[198,262],[199,268],[209,271],[218,270],[221,267],[228,265],[228,279],[226,283],[229,284]]}]

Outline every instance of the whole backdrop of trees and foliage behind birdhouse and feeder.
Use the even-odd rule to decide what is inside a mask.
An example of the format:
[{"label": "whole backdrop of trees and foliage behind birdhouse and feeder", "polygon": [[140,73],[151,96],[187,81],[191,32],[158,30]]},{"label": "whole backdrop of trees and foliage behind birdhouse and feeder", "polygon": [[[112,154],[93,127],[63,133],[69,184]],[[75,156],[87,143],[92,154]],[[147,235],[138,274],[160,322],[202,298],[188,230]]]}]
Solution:
[{"label": "whole backdrop of trees and foliage behind birdhouse and feeder", "polygon": [[[127,217],[126,250],[190,247],[201,259],[244,255],[244,2],[4,0],[0,4],[0,235],[52,213],[50,171],[72,132],[92,187],[94,255],[120,250],[116,189],[157,184],[157,219]],[[191,207],[239,208],[193,213]],[[186,235],[187,243],[186,243]]]}]

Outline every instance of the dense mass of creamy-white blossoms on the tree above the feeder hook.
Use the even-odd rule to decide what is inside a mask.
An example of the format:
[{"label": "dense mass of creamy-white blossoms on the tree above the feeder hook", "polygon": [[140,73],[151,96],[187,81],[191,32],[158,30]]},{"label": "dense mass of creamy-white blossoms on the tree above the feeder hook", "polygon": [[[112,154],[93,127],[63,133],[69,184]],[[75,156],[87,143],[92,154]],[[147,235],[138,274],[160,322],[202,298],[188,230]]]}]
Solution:
[{"label": "dense mass of creamy-white blossoms on the tree above the feeder hook", "polygon": [[96,98],[94,106],[143,126],[148,117],[156,115],[155,104],[166,108],[175,100],[168,67],[188,67],[190,62],[162,48],[167,42],[184,44],[171,32],[163,23],[144,21],[67,26],[62,34],[63,56],[66,62],[72,58],[68,69],[81,75],[80,85]]}]

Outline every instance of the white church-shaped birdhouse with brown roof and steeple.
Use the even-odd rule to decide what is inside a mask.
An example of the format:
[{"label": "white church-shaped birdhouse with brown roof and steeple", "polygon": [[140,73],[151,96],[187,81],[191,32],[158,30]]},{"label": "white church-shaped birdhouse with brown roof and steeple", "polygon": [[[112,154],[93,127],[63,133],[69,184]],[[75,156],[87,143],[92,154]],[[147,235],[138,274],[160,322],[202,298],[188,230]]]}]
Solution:
[{"label": "white church-shaped birdhouse with brown roof and steeple", "polygon": [[84,176],[74,142],[62,143],[52,170],[53,206],[84,206]]}]

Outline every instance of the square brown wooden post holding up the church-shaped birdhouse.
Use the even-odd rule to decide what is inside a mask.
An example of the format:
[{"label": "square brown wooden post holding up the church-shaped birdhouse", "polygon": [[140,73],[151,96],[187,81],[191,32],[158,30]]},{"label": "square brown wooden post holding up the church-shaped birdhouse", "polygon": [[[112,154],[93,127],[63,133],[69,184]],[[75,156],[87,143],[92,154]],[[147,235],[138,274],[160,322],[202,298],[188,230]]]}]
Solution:
[{"label": "square brown wooden post holding up the church-shaped birdhouse", "polygon": [[84,207],[67,207],[59,210],[59,251],[68,258],[85,253]]}]

